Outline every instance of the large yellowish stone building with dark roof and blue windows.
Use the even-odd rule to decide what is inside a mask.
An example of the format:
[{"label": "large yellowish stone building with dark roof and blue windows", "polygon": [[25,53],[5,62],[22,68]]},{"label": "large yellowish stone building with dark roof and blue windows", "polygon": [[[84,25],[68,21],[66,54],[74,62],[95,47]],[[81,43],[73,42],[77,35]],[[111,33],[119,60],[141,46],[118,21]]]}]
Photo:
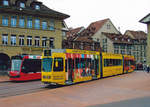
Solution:
[{"label": "large yellowish stone building with dark roof and blue windows", "polygon": [[68,17],[37,0],[1,0],[0,69],[6,68],[13,55],[41,55],[45,48],[62,48]]}]

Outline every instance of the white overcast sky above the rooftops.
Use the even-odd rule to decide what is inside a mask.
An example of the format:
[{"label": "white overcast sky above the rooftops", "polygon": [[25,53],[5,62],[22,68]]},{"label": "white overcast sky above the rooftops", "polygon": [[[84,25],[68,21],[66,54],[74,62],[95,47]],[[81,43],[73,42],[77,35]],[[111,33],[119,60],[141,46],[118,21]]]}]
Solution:
[{"label": "white overcast sky above the rooftops", "polygon": [[39,0],[56,11],[70,15],[68,27],[87,27],[90,23],[110,18],[121,32],[146,31],[139,20],[150,13],[150,0]]}]

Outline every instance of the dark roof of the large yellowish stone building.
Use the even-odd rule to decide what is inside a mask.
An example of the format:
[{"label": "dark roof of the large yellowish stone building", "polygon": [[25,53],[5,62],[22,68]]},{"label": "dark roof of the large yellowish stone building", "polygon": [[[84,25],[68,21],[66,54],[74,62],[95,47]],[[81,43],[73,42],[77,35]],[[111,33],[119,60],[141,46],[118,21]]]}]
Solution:
[{"label": "dark roof of the large yellowish stone building", "polygon": [[[15,12],[20,14],[28,14],[28,15],[38,15],[38,16],[46,16],[46,17],[53,17],[58,19],[66,19],[70,17],[67,14],[60,13],[58,11],[52,10],[48,8],[47,6],[43,5],[42,2],[39,2],[38,0],[25,0],[26,1],[26,8],[23,8],[20,10],[19,7],[16,5],[17,0],[10,0],[10,6],[0,6],[0,12],[9,13],[9,12]],[[41,4],[40,10],[35,10],[31,7],[32,3],[39,3]]]}]

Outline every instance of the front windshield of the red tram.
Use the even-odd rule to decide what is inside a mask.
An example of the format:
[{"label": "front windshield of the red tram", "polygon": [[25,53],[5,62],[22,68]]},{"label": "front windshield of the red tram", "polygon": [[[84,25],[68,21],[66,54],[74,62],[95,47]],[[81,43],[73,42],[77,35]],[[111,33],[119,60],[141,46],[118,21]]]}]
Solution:
[{"label": "front windshield of the red tram", "polygon": [[21,62],[22,60],[20,59],[13,59],[11,64],[11,71],[20,71]]}]

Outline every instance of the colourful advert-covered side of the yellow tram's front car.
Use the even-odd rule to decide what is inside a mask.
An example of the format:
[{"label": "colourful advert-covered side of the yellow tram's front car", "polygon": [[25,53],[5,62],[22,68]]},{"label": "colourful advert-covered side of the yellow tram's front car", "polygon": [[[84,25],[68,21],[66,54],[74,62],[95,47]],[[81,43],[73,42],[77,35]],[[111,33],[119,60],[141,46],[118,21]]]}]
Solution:
[{"label": "colourful advert-covered side of the yellow tram's front car", "polygon": [[98,55],[66,53],[66,62],[66,81],[77,83],[100,77]]}]

